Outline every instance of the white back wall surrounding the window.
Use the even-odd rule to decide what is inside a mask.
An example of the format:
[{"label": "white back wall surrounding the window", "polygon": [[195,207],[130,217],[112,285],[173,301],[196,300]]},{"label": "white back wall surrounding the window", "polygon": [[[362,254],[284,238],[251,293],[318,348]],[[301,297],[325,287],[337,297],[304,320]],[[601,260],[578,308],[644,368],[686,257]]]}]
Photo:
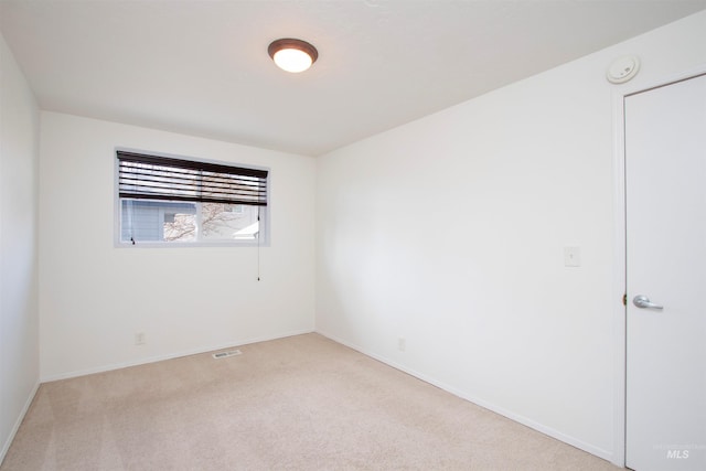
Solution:
[{"label": "white back wall surrounding the window", "polygon": [[[313,330],[312,158],[45,113],[43,381]],[[271,245],[114,247],[115,148],[268,167]],[[135,345],[145,332],[147,344]]]}]

